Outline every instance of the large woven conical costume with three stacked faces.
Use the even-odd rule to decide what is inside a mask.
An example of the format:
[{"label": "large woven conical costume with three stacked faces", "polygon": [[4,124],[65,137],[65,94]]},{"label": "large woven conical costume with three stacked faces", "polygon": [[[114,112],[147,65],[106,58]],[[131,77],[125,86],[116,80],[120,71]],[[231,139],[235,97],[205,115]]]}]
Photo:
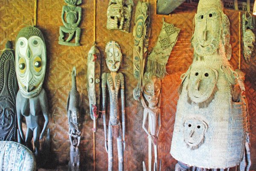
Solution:
[{"label": "large woven conical costume with three stacked faces", "polygon": [[231,57],[230,23],[221,0],[200,0],[192,38],[194,60],[182,85],[170,153],[198,168],[239,165],[245,147],[245,106]]}]

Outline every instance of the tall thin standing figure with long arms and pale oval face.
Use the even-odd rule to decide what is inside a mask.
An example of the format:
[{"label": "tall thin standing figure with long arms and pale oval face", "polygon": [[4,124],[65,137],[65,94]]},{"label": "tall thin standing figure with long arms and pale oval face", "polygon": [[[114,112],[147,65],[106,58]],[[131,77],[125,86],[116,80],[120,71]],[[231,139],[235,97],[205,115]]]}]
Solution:
[{"label": "tall thin standing figure with long arms and pale oval face", "polygon": [[[118,43],[110,41],[106,45],[106,63],[111,73],[102,74],[102,110],[105,134],[105,148],[108,153],[108,171],[113,170],[113,137],[117,141],[119,171],[123,171],[123,152],[125,150],[125,85],[124,76],[118,73],[122,61],[122,53]],[[108,122],[108,140],[106,128],[106,86],[110,100],[110,118]],[[119,90],[121,91],[122,127],[119,119]],[[123,145],[123,146],[122,146]]]}]

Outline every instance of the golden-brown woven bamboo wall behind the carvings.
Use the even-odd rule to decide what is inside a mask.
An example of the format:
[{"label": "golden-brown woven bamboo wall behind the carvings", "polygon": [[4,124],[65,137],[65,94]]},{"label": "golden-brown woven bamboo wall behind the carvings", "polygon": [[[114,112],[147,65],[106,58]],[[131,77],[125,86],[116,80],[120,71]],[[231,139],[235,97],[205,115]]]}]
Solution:
[{"label": "golden-brown woven bamboo wall behind the carvings", "polygon": [[[141,171],[142,161],[147,163],[147,136],[142,129],[143,107],[135,102],[132,90],[135,87],[135,79],[132,75],[132,48],[134,38],[130,33],[121,31],[109,31],[106,29],[106,13],[108,0],[97,0],[96,14],[96,40],[102,54],[102,70],[105,67],[105,45],[109,40],[117,41],[124,55],[119,71],[125,76],[125,105],[126,105],[126,149],[124,157],[125,171]],[[157,41],[162,26],[162,15],[155,14],[156,0],[151,3],[151,39],[150,49]],[[93,0],[83,0],[82,21],[80,28],[81,46],[68,47],[58,44],[59,26],[61,23],[61,9],[64,0],[38,0],[38,28],[43,32],[47,43],[47,73],[44,88],[48,93],[49,103],[49,128],[51,129],[51,156],[46,168],[59,168],[64,170],[69,159],[70,142],[68,140],[68,125],[66,115],[67,95],[71,88],[70,71],[76,66],[78,76],[77,85],[82,99],[82,138],[81,138],[81,165],[82,170],[93,170],[93,131],[92,121],[88,114],[87,99],[87,54],[93,44]],[[134,26],[134,13],[137,0],[134,0],[131,28]],[[7,40],[15,42],[18,31],[30,24],[33,18],[34,0],[0,0],[0,49],[4,48]],[[169,75],[163,80],[162,123],[163,127],[159,137],[159,158],[162,159],[163,171],[171,171],[175,168],[176,161],[169,154],[172,140],[175,111],[178,100],[177,87],[180,84],[180,75],[186,71],[192,63],[192,49],[190,39],[192,36],[192,20],[196,7],[183,4],[172,15],[164,16],[166,22],[173,23],[181,28],[176,46],[174,47],[167,71]],[[225,10],[231,23],[231,41],[233,57],[231,63],[236,69],[239,59],[239,12]],[[255,53],[253,54],[255,56]],[[251,63],[245,63],[242,59],[242,70],[246,72],[247,98],[249,102],[251,122],[251,148],[252,170],[256,169],[256,59]],[[114,145],[114,170],[118,170],[117,150]],[[98,120],[96,132],[96,170],[107,170],[108,157],[104,148],[104,132],[102,120]]]}]

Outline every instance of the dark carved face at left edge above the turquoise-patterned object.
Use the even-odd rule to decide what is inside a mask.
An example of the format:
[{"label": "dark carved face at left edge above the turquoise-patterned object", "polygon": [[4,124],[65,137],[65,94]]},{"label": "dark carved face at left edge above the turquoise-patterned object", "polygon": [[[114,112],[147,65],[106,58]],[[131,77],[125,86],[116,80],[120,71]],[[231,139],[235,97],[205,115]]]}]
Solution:
[{"label": "dark carved face at left edge above the turquoise-patterned object", "polygon": [[6,135],[15,123],[14,105],[8,100],[0,101],[0,141],[6,139]]}]

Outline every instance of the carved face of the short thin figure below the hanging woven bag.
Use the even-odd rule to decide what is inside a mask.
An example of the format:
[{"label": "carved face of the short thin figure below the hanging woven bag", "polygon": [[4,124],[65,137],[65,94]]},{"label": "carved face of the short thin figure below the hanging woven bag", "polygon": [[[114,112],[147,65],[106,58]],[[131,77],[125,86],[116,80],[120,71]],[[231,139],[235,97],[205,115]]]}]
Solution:
[{"label": "carved face of the short thin figure below the hanging woven bag", "polygon": [[143,76],[143,94],[150,107],[155,107],[159,101],[161,80],[155,75],[146,72]]}]

